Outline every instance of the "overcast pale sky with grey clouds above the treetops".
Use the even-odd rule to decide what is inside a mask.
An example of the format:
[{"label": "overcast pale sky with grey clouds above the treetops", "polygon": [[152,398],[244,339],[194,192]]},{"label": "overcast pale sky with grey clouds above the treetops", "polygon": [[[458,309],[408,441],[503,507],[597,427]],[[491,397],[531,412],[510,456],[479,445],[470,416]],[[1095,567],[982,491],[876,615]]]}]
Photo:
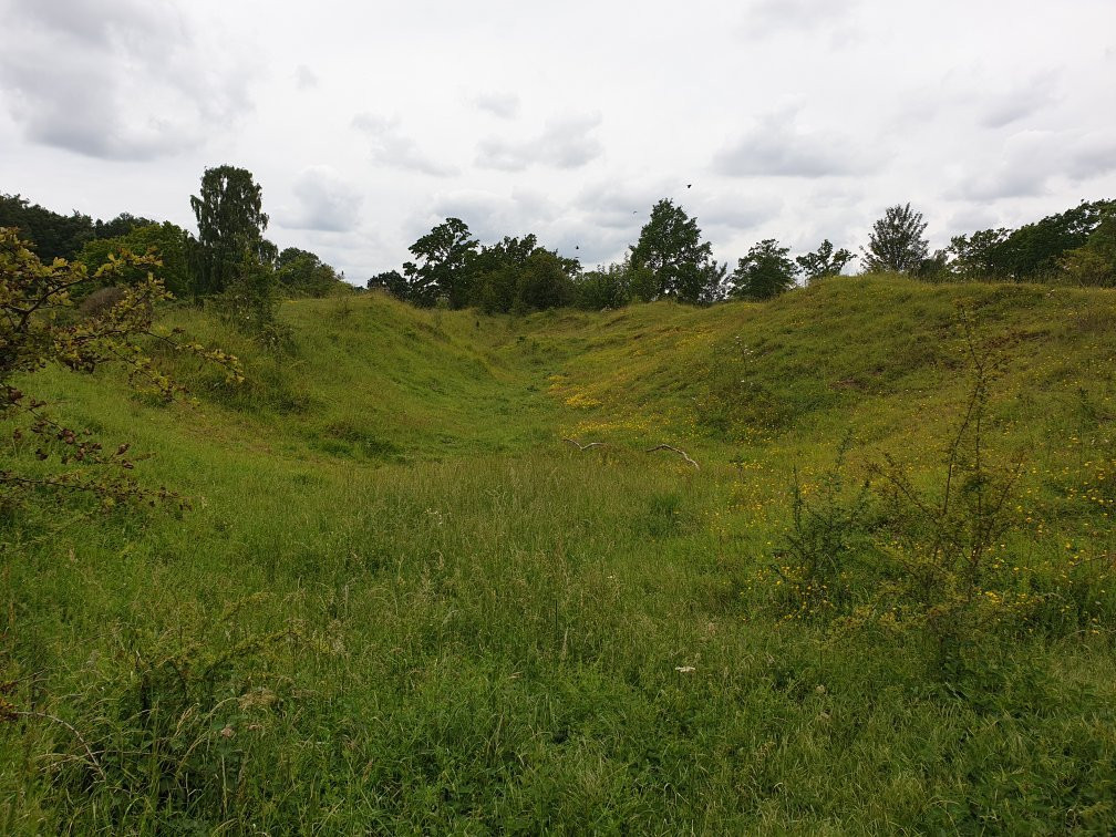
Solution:
[{"label": "overcast pale sky with grey clouds above the treetops", "polygon": [[194,229],[204,169],[243,166],[268,237],[362,285],[448,215],[593,267],[672,198],[734,264],[856,250],[894,203],[941,247],[1116,198],[1114,0],[0,12],[0,192]]}]

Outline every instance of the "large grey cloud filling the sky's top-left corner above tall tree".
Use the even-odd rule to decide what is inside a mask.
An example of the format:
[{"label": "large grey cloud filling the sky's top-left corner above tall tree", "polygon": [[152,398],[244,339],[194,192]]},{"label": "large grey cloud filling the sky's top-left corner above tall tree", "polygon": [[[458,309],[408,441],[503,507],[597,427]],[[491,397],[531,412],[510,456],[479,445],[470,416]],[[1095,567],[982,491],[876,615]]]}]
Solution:
[{"label": "large grey cloud filling the sky's top-left corner above tall tree", "polygon": [[144,161],[250,110],[250,69],[167,2],[9,0],[0,90],[29,142]]}]

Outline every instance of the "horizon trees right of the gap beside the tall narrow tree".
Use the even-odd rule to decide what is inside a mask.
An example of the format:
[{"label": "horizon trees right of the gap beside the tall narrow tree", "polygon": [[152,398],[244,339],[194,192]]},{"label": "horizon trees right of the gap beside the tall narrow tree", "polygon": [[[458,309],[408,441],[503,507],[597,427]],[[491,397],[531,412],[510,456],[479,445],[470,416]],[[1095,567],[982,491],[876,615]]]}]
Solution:
[{"label": "horizon trees right of the gap beside the tall narrow tree", "polygon": [[533,233],[481,246],[468,224],[449,218],[410,247],[402,272],[368,280],[416,306],[477,306],[485,311],[531,311],[562,306],[616,308],[635,301],[674,299],[711,305],[727,299],[764,300],[825,277],[855,260],[862,273],[904,273],[926,281],[1071,282],[1116,287],[1116,201],[1083,201],[1019,229],[954,235],[930,251],[926,222],[911,204],[889,206],[854,254],[828,239],[790,257],[777,239],[753,244],[737,260],[713,258],[698,221],[664,199],[619,262],[583,270],[577,259],[539,244]]}]

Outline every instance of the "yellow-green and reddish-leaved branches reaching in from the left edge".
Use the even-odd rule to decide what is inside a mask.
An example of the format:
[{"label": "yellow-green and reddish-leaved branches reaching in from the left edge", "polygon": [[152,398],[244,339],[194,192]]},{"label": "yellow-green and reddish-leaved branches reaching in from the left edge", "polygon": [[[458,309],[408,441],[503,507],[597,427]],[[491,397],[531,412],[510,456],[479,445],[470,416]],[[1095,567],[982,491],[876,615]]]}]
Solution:
[{"label": "yellow-green and reddish-leaved branches reaching in from the left edge", "polygon": [[[156,264],[152,256],[125,252],[109,257],[95,276],[109,283],[121,270]],[[39,490],[88,492],[109,506],[167,496],[164,489],[152,492],[136,483],[127,443],[105,449],[88,432],[54,419],[45,402],[26,392],[35,373],[47,365],[92,373],[105,364],[122,364],[134,385],[170,398],[181,389],[143,345],[156,340],[215,362],[229,378],[242,379],[234,357],[154,328],[154,307],[167,292],[150,272],[114,305],[84,318],[67,316],[70,291],[88,280],[80,262],[56,259],[45,264],[15,230],[0,228],[0,420],[11,445],[10,464],[0,468],[0,504],[20,503]],[[32,461],[36,464],[28,466]]]}]

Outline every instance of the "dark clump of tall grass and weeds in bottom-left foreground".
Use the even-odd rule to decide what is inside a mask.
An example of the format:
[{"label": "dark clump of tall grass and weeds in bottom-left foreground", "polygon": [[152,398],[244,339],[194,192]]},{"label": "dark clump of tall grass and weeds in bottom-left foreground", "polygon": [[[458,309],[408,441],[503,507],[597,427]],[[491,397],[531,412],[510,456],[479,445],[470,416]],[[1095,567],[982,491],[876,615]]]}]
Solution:
[{"label": "dark clump of tall grass and weeds in bottom-left foreground", "polygon": [[260,598],[233,603],[198,626],[196,637],[163,635],[123,666],[99,666],[88,690],[62,705],[45,698],[44,709],[20,713],[54,733],[51,751],[40,756],[54,792],[86,800],[70,827],[213,828],[237,819],[246,798],[260,791],[246,778],[259,780],[252,762],[276,745],[291,700],[277,663],[299,632],[214,642],[230,636],[237,615]]}]

